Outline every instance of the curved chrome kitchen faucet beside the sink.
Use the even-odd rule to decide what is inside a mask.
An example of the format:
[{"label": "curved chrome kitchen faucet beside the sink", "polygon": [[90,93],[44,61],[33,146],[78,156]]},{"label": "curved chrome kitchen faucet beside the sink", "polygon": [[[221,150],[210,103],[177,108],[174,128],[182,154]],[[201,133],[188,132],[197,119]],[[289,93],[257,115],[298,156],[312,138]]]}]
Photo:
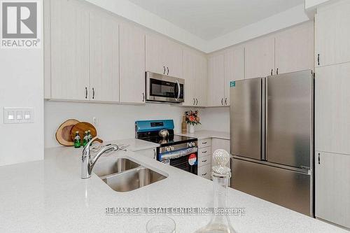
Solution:
[{"label": "curved chrome kitchen faucet beside the sink", "polygon": [[90,145],[92,142],[96,141],[97,138],[98,137],[95,136],[93,139],[91,139],[91,141],[89,141],[83,149],[83,155],[81,156],[81,178],[82,179],[91,177],[92,168],[94,167],[94,164],[96,164],[99,157],[101,157],[101,155],[111,151],[119,150],[119,147],[117,145],[112,144],[109,146],[104,146],[101,150],[97,152],[97,155],[95,155],[94,158],[91,160]]}]

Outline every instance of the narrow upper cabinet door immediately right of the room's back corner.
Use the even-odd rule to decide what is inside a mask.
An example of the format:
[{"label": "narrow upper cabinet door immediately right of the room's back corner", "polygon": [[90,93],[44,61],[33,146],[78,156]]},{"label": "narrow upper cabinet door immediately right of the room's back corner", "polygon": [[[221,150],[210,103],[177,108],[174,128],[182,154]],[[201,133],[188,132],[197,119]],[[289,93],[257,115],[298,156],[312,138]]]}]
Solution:
[{"label": "narrow upper cabinet door immediately right of the room's back corner", "polygon": [[224,57],[213,55],[208,60],[208,106],[223,106],[225,98]]}]

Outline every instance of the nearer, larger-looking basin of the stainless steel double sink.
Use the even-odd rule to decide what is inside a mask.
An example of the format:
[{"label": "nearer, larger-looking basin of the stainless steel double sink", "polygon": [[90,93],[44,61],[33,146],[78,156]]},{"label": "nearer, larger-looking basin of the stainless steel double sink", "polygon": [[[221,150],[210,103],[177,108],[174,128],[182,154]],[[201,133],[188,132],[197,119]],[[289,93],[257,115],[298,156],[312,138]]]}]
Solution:
[{"label": "nearer, larger-looking basin of the stainless steel double sink", "polygon": [[146,167],[137,167],[123,173],[100,178],[113,190],[127,192],[161,181],[167,177]]}]

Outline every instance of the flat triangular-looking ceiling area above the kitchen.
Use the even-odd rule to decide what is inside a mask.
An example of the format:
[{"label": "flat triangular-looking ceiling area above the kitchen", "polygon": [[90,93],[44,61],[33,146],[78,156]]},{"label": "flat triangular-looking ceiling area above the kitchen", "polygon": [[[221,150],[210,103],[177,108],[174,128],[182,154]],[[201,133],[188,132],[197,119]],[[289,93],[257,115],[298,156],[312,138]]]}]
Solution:
[{"label": "flat triangular-looking ceiling area above the kitchen", "polygon": [[304,3],[304,0],[129,1],[206,41]]}]

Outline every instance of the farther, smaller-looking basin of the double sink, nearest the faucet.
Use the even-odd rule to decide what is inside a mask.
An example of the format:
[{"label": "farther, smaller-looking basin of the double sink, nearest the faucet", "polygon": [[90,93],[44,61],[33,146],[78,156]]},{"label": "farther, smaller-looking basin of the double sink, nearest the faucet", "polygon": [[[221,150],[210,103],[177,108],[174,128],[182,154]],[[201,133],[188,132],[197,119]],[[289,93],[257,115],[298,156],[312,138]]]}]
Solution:
[{"label": "farther, smaller-looking basin of the double sink, nearest the faucet", "polygon": [[119,174],[120,172],[127,171],[130,169],[135,169],[139,167],[140,164],[128,160],[127,158],[118,158],[113,160],[105,160],[102,162],[97,162],[92,170],[94,174],[100,178],[103,176],[109,176],[111,174]]}]

